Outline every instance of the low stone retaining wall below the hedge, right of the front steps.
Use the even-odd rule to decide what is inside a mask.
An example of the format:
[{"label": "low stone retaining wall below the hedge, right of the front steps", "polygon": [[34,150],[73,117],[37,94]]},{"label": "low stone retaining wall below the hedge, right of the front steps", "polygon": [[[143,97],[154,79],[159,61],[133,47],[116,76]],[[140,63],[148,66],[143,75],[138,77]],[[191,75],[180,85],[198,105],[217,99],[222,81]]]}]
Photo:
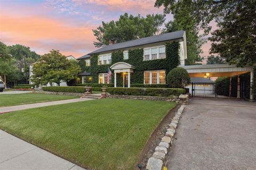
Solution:
[{"label": "low stone retaining wall below the hedge, right of the front steps", "polygon": [[180,99],[177,96],[173,96],[173,97],[158,97],[158,96],[128,96],[128,95],[109,95],[109,94],[106,95],[106,98],[174,101],[176,103],[183,103],[183,101],[186,100],[186,99]]}]

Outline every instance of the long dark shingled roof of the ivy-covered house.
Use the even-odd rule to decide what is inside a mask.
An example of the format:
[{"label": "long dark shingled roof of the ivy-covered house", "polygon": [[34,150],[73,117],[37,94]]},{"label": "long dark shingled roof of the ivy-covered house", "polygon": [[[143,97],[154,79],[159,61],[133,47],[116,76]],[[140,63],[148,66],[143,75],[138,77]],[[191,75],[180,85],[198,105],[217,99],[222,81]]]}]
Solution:
[{"label": "long dark shingled roof of the ivy-covered house", "polygon": [[[175,32],[170,32],[170,33],[164,33],[164,34],[157,35],[157,36],[134,39],[134,40],[126,41],[123,43],[108,45],[108,46],[102,47],[100,49],[97,49],[94,52],[89,53],[89,55],[102,53],[102,52],[108,52],[108,51],[116,50],[116,49],[123,49],[123,48],[142,46],[142,45],[153,44],[153,43],[160,43],[160,42],[170,41],[170,40],[179,40],[179,39],[183,40],[184,32],[185,31],[175,31]],[[77,58],[77,59],[78,60],[82,59],[82,57]]]}]

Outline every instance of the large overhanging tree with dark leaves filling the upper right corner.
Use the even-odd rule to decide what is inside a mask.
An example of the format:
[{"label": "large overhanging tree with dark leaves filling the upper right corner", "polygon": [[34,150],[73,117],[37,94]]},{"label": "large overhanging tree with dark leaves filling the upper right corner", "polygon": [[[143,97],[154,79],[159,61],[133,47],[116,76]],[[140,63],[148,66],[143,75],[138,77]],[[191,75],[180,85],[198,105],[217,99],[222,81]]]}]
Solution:
[{"label": "large overhanging tree with dark leaves filling the upper right corner", "polygon": [[[213,32],[213,38],[210,40],[214,43],[218,41],[221,45],[213,44],[211,52],[219,53],[230,64],[245,66],[255,63],[253,47],[255,47],[256,1],[156,0],[155,6],[164,6],[164,13],[172,13],[178,23],[202,29],[205,35],[212,28],[210,22],[216,22],[220,28]],[[229,24],[233,24],[231,28],[228,28]],[[233,33],[236,36],[233,37]],[[242,45],[239,46],[238,42],[242,42]],[[250,50],[246,50],[247,47]],[[236,50],[239,48],[241,49]],[[231,50],[233,52],[229,53]]]}]

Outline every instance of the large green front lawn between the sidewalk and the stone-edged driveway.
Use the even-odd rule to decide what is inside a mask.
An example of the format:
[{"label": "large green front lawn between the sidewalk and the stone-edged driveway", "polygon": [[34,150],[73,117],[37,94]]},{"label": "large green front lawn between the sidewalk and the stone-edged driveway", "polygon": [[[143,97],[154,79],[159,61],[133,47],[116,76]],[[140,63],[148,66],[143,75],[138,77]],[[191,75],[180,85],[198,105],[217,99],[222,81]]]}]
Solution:
[{"label": "large green front lawn between the sidewalk and the stone-edged driveway", "polygon": [[98,99],[0,115],[0,129],[89,169],[134,169],[176,104]]}]

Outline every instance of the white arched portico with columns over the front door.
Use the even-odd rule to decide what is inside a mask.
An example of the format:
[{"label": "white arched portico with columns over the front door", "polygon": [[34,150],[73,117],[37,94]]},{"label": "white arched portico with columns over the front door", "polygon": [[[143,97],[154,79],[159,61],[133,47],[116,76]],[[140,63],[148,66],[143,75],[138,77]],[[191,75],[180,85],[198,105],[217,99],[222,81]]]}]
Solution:
[{"label": "white arched portico with columns over the front door", "polygon": [[110,66],[110,69],[115,73],[115,87],[116,87],[116,74],[123,74],[124,87],[131,87],[131,73],[133,73],[134,66],[125,62],[118,62]]}]

